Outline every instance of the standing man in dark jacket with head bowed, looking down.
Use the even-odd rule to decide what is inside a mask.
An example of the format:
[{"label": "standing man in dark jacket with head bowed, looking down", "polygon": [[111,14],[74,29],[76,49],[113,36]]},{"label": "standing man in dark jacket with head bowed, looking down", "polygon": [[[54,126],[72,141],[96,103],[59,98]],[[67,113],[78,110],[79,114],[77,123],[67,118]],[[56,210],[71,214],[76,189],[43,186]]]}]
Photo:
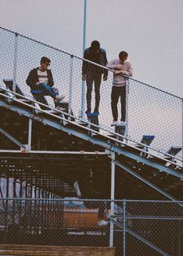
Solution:
[{"label": "standing man in dark jacket with head bowed, looking down", "polygon": [[[91,47],[85,49],[84,59],[88,61],[95,62],[105,67],[107,64],[106,52],[104,49],[100,48],[100,43],[98,41],[93,41]],[[86,80],[87,85],[87,111],[91,112],[91,92],[93,82],[95,83],[95,109],[94,112],[98,112],[99,102],[100,102],[100,85],[103,80],[107,80],[108,71],[105,68],[98,67],[95,64],[91,64],[88,61],[84,61],[82,65],[82,80]]]}]

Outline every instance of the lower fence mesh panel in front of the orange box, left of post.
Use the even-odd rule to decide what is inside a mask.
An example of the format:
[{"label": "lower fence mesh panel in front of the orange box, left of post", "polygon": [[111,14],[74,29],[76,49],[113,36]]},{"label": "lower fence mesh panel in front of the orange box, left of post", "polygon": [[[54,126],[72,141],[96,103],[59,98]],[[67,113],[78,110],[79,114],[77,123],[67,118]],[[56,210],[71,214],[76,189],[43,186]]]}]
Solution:
[{"label": "lower fence mesh panel in front of the orange box, left of post", "polygon": [[0,205],[1,244],[109,246],[104,201],[1,199]]}]

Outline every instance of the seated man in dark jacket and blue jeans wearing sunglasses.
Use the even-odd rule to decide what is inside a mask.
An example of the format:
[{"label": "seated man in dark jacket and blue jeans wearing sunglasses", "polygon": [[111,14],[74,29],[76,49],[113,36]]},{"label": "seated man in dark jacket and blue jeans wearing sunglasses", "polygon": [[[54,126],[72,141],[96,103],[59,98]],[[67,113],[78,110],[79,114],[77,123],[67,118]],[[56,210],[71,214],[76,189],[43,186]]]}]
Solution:
[{"label": "seated man in dark jacket and blue jeans wearing sunglasses", "polygon": [[49,95],[54,99],[55,106],[59,110],[59,102],[64,99],[64,95],[59,95],[57,88],[54,88],[54,79],[50,69],[50,59],[42,57],[40,60],[40,67],[33,68],[29,72],[26,84],[31,88],[31,93],[35,96],[36,100],[45,104],[43,95]]}]

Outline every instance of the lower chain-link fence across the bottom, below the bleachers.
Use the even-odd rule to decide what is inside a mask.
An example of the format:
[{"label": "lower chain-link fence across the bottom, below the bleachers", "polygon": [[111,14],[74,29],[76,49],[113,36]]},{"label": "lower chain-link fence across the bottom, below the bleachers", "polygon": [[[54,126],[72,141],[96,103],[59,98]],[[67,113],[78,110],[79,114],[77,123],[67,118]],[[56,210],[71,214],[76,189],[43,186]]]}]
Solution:
[{"label": "lower chain-link fence across the bottom, below the bleachers", "polygon": [[0,199],[1,244],[115,247],[116,255],[183,254],[183,202]]}]

